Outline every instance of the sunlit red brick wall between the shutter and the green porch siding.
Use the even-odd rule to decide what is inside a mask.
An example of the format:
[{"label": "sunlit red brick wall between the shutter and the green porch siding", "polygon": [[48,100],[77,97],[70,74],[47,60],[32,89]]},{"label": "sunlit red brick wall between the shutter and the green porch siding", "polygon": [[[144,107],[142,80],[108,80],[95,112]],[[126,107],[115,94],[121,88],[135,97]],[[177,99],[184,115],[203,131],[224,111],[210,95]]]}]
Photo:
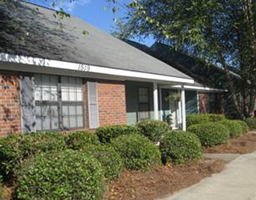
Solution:
[{"label": "sunlit red brick wall between the shutter and the green porch siding", "polygon": [[122,82],[98,82],[100,126],[126,124],[126,94]]}]

